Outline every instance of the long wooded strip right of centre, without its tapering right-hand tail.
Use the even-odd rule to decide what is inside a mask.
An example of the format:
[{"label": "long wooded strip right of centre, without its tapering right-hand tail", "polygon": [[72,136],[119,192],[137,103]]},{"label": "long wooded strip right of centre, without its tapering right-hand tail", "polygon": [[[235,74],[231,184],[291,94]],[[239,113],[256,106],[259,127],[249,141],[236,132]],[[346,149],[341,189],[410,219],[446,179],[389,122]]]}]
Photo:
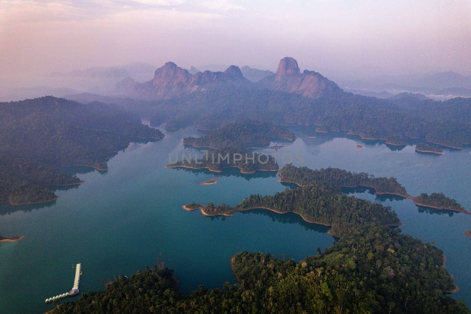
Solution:
[{"label": "long wooded strip right of centre, without its tapering right-hand tail", "polygon": [[307,185],[313,182],[325,182],[334,186],[372,187],[377,193],[399,194],[408,196],[406,188],[398,183],[396,178],[378,177],[368,175],[367,173],[355,173],[339,168],[321,168],[312,170],[308,167],[296,167],[292,164],[284,165],[280,169],[280,180]]}]

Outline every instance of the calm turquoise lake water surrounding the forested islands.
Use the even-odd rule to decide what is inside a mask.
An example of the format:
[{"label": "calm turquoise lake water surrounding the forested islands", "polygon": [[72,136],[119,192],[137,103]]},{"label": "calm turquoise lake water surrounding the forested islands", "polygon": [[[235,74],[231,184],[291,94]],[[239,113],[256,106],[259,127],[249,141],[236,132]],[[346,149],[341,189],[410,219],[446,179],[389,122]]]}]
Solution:
[{"label": "calm turquoise lake water surrounding the forested islands", "polygon": [[[443,191],[471,208],[470,148],[426,155],[416,153],[413,146],[389,147],[307,128],[293,131],[298,140],[276,152],[301,153],[303,165],[394,176],[409,194]],[[252,193],[274,194],[289,186],[278,182],[273,172],[243,175],[226,169],[215,174],[164,168],[169,153],[197,152],[184,148],[182,140],[198,134],[189,127],[166,132],[156,142],[132,143],[109,161],[105,173],[68,168],[86,182],[57,190],[59,199],[53,203],[0,206],[1,234],[24,235],[20,241],[0,243],[0,312],[49,310],[53,305],[45,305],[44,299],[72,288],[76,263],[82,263],[82,292],[104,289],[115,275],[129,276],[156,262],[172,268],[180,289],[189,292],[200,284],[213,288],[235,282],[229,259],[239,251],[268,251],[300,260],[333,243],[328,227],[305,223],[294,214],[258,209],[232,217],[206,217],[184,210],[182,205],[192,201],[235,205]],[[356,148],[357,144],[365,149]],[[284,164],[281,158],[279,164]],[[217,184],[200,185],[214,176],[219,177]],[[401,227],[405,233],[434,240],[444,250],[447,270],[460,288],[452,297],[471,306],[471,238],[463,234],[471,230],[471,215],[430,211],[409,199],[379,197],[367,189],[345,192],[390,205],[405,224]]]}]

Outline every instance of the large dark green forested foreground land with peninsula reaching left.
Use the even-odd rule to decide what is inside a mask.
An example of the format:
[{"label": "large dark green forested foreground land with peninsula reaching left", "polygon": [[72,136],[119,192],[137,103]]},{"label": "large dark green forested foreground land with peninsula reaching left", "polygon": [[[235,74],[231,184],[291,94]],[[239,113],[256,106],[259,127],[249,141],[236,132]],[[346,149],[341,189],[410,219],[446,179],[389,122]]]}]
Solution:
[{"label": "large dark green forested foreground land with peninsula reaching left", "polygon": [[[200,208],[189,204],[190,209]],[[317,256],[296,262],[260,252],[231,259],[237,283],[184,295],[168,268],[155,265],[119,276],[105,291],[82,294],[56,313],[470,313],[447,293],[456,289],[442,266],[443,251],[386,225],[390,207],[347,197],[338,187],[313,183],[274,196],[252,195],[236,207],[203,207],[207,214],[269,207],[332,225],[341,238]]]}]

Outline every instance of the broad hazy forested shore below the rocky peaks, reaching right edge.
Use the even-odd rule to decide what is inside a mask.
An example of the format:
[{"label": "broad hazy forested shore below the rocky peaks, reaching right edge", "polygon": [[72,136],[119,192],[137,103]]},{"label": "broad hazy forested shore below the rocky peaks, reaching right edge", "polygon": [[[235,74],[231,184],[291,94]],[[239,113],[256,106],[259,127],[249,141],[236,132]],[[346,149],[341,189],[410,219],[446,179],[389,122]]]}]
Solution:
[{"label": "broad hazy forested shore below the rocky peaks, reaching right edge", "polygon": [[159,101],[149,114],[151,123],[168,121],[173,128],[194,123],[210,130],[234,118],[255,117],[276,124],[317,124],[320,131],[342,130],[398,145],[407,143],[404,136],[452,147],[471,143],[471,98],[415,99],[404,105],[351,93],[310,99],[281,91],[226,87]]}]

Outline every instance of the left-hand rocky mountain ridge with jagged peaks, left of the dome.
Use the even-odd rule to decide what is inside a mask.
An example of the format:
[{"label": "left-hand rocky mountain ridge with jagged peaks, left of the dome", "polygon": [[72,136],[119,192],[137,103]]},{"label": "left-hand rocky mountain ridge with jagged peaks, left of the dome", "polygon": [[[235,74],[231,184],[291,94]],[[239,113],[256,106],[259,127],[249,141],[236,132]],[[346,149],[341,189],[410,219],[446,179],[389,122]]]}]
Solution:
[{"label": "left-hand rocky mountain ridge with jagged peaks, left of the dome", "polygon": [[224,84],[245,85],[238,66],[229,66],[224,72],[196,72],[190,74],[173,62],[167,62],[155,71],[154,79],[136,84],[133,96],[139,98],[169,99],[194,91],[205,91]]}]

